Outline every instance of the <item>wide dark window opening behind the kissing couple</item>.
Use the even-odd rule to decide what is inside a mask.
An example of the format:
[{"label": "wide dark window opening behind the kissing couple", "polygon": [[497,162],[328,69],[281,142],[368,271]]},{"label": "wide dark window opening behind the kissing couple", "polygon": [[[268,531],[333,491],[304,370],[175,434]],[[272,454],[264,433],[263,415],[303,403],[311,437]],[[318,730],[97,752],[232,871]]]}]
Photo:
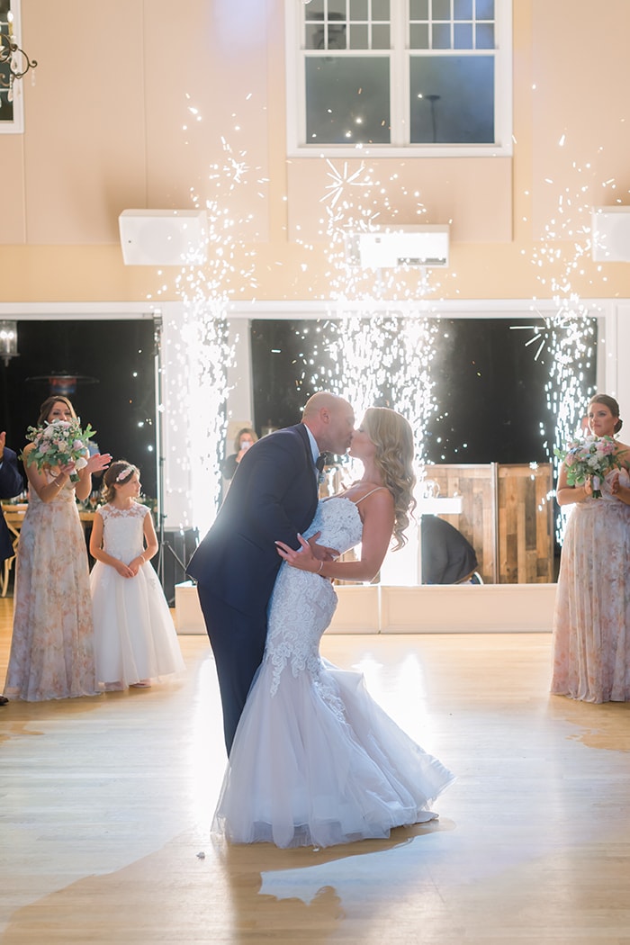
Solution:
[{"label": "wide dark window opening behind the kissing couple", "polygon": [[[383,319],[376,360],[385,370],[374,369],[376,387],[368,403],[394,406],[406,414],[416,428],[417,442],[423,444],[425,461],[544,463],[553,458],[557,418],[550,400],[553,404],[566,392],[557,375],[550,381],[550,362],[557,356],[553,347],[558,338],[553,335],[557,332],[561,338],[566,329],[550,329],[544,318],[524,318],[516,312],[505,318],[487,318],[481,311],[479,317],[440,316],[427,358],[435,409],[422,418],[414,415],[406,399],[405,371],[396,350],[403,321]],[[368,324],[374,326],[373,317],[366,318],[366,331]],[[584,318],[582,327],[595,352],[602,344],[597,318]],[[297,423],[315,390],[339,389],[349,381],[354,368],[344,361],[351,350],[339,343],[344,333],[343,323],[333,319],[252,320],[254,422],[259,433],[265,426]],[[596,389],[596,357],[570,351],[564,344],[562,350],[567,369],[580,378],[575,395],[579,407]],[[370,380],[366,378],[364,387]],[[479,421],[482,404],[491,410],[491,422]]]}]

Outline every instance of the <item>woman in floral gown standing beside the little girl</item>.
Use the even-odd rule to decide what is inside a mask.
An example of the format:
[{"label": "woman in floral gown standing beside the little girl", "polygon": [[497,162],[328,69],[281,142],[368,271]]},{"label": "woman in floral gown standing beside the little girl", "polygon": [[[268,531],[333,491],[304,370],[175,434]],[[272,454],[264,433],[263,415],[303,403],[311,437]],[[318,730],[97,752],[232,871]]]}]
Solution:
[{"label": "woman in floral gown standing beside the little girl", "polygon": [[[77,419],[65,397],[53,396],[40,408],[45,421]],[[88,556],[76,499],[92,491],[92,473],[109,466],[111,456],[90,456],[77,471],[70,463],[39,472],[24,451],[28,508],[20,532],[13,610],[13,635],[6,694],[39,702],[96,695],[94,627]]]}]

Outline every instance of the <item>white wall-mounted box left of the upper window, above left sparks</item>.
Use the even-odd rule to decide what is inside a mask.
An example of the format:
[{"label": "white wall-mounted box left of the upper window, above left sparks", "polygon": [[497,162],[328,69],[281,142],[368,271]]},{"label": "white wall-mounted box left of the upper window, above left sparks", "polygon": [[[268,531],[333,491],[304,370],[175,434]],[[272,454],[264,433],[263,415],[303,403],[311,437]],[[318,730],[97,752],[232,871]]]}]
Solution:
[{"label": "white wall-mounted box left of the upper window, above left sparks", "polygon": [[118,224],[126,266],[196,266],[208,258],[205,210],[124,210]]}]

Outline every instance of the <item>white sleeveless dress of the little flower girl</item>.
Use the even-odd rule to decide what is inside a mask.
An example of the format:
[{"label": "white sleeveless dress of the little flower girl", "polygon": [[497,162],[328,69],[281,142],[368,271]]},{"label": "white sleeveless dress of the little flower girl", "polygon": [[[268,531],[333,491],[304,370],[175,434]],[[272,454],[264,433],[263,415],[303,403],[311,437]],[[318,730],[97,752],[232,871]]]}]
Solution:
[{"label": "white sleeveless dress of the little flower girl", "polygon": [[[145,515],[134,502],[128,509],[102,506],[103,548],[128,564],[142,555]],[[153,567],[143,564],[135,577],[96,561],[90,576],[94,612],[96,679],[107,688],[179,673],[184,663],[162,585]]]}]

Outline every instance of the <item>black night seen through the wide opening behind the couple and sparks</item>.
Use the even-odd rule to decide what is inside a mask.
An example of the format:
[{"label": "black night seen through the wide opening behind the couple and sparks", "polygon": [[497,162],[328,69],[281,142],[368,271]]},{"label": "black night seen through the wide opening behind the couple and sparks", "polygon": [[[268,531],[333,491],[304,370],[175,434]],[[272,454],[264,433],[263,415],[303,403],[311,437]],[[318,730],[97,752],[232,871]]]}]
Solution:
[{"label": "black night seen through the wide opening behind the couple and sparks", "polygon": [[[436,410],[427,424],[427,459],[444,463],[546,462],[553,415],[546,385],[549,352],[526,344],[532,318],[441,318],[432,362]],[[313,321],[252,322],[256,427],[296,423],[319,374],[335,367]],[[522,330],[517,326],[524,326]],[[538,356],[536,358],[536,352]],[[595,385],[595,359],[584,378]],[[381,406],[388,406],[383,390]],[[542,425],[541,425],[542,424]]]}]

